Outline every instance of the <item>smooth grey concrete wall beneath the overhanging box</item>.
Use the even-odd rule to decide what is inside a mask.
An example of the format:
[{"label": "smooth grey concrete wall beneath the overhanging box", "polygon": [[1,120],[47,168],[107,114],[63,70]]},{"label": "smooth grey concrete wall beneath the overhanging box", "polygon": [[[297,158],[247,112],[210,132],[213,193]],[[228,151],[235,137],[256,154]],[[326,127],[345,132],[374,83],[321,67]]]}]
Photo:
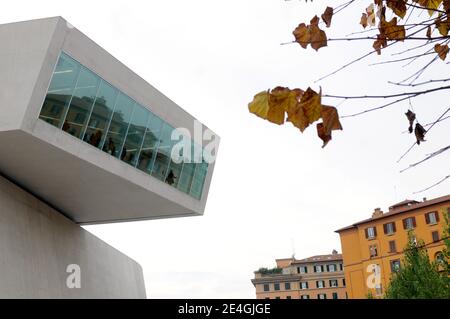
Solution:
[{"label": "smooth grey concrete wall beneath the overhanging box", "polygon": [[0,298],[145,297],[138,263],[0,176]]}]

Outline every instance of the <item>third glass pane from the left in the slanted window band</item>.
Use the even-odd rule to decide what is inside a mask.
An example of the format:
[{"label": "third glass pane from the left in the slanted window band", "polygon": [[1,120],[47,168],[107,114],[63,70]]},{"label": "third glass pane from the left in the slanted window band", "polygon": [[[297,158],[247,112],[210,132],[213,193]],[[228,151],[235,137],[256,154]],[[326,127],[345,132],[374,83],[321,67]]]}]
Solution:
[{"label": "third glass pane from the left in the slanted window band", "polygon": [[109,83],[102,81],[95,98],[94,108],[89,119],[89,125],[84,134],[84,140],[95,147],[101,148],[106,136],[109,121],[114,111],[118,91]]}]

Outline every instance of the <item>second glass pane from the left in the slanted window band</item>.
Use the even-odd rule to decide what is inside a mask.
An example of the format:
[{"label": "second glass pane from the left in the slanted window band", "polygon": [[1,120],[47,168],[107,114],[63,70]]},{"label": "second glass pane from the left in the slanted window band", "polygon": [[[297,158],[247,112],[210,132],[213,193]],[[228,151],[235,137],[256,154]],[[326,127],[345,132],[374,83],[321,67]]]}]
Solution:
[{"label": "second glass pane from the left in the slanted window band", "polygon": [[94,106],[100,78],[86,68],[81,68],[75,91],[67,111],[63,131],[81,138],[84,133],[88,117]]}]

